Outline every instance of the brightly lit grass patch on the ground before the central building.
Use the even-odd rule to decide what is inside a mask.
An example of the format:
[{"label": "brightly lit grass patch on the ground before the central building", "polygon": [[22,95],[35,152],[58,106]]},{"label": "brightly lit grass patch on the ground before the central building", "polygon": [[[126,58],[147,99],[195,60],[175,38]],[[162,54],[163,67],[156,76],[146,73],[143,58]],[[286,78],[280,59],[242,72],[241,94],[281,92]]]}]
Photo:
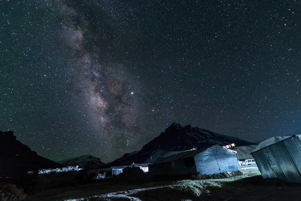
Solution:
[{"label": "brightly lit grass patch on the ground before the central building", "polygon": [[222,187],[219,182],[209,181],[202,182],[198,180],[182,180],[176,182],[175,188],[184,191],[187,194],[192,194],[194,196],[200,196],[203,192],[209,192],[208,187]]}]

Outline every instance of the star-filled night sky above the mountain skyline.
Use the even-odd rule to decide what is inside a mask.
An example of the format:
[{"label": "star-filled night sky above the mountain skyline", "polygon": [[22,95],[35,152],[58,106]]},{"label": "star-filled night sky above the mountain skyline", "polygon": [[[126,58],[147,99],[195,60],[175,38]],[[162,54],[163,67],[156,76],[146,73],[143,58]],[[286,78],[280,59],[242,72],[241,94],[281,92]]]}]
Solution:
[{"label": "star-filled night sky above the mountain skyline", "polygon": [[0,130],[58,161],[173,122],[301,133],[300,1],[1,1]]}]

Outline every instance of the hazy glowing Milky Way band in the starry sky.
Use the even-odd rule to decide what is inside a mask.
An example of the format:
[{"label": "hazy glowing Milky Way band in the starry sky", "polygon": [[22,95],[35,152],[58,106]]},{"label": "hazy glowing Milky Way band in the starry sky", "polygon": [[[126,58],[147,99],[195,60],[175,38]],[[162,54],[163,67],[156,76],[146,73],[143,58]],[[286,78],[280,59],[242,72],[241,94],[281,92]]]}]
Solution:
[{"label": "hazy glowing Milky Way band in the starry sky", "polygon": [[[80,11],[59,3],[53,7],[61,20],[62,46],[70,54],[67,68],[73,74],[72,90],[77,91],[82,103],[75,107],[85,107],[91,113],[93,124],[90,126],[104,142],[101,146],[115,147],[114,150],[120,146],[122,153],[124,147],[137,142],[136,131],[140,130],[136,118],[140,104],[132,92],[139,89],[139,83],[126,67],[103,51],[103,45],[113,46],[113,41],[105,34],[100,36],[101,32],[89,30],[89,23],[94,23],[86,19],[89,14],[80,15]],[[98,6],[95,10],[102,12]]]}]

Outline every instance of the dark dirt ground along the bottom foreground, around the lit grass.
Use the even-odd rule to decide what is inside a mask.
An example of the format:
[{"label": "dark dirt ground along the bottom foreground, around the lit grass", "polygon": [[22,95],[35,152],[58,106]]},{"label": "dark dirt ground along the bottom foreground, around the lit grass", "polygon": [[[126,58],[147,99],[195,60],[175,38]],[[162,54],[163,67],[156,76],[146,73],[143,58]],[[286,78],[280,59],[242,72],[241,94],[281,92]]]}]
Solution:
[{"label": "dark dirt ground along the bottom foreground, around the lit grass", "polygon": [[[199,182],[199,181],[195,181]],[[206,182],[203,180],[201,182]],[[209,181],[211,182],[211,181]],[[301,200],[301,185],[263,179],[261,175],[245,176],[234,181],[215,180],[220,186],[209,186],[200,196],[179,190],[175,181],[152,181],[142,184],[96,183],[73,187],[49,189],[28,197],[33,201],[63,200],[136,200],[136,201],[253,201],[253,200]],[[98,195],[98,197],[92,197]],[[84,199],[89,197],[88,199]]]}]

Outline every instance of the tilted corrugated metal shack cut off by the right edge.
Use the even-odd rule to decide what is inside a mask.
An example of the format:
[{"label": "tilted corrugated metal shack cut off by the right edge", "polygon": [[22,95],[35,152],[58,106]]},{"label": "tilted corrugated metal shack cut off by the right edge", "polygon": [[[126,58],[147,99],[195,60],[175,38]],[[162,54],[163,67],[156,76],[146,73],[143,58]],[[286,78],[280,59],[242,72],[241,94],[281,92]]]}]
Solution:
[{"label": "tilted corrugated metal shack cut off by the right edge", "polygon": [[270,138],[251,154],[263,178],[301,183],[301,135]]}]

